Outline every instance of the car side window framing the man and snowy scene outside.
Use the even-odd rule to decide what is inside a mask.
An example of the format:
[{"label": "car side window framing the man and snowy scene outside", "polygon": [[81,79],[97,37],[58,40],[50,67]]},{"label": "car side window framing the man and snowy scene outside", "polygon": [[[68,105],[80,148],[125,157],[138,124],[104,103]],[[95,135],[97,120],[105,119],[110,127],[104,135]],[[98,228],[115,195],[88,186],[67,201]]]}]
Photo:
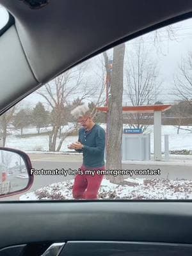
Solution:
[{"label": "car side window framing the man and snowy scene outside", "polygon": [[192,199],[191,45],[192,19],[151,31],[6,111],[1,146],[26,152],[35,175],[12,200]]}]

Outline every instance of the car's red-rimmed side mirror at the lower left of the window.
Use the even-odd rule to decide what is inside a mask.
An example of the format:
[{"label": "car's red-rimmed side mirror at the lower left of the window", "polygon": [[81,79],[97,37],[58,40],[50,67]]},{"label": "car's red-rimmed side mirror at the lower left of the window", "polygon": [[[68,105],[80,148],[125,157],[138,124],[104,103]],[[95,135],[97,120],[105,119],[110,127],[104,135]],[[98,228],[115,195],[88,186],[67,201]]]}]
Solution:
[{"label": "car's red-rimmed side mirror at the lower left of the window", "polygon": [[28,155],[13,148],[0,147],[0,198],[31,188],[33,175]]}]

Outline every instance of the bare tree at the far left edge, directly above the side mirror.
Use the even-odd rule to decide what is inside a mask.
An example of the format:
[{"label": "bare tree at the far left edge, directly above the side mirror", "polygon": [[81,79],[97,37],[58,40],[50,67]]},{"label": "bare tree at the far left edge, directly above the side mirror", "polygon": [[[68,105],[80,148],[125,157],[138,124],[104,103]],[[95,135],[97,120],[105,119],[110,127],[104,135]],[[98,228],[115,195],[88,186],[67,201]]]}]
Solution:
[{"label": "bare tree at the far left edge, directly above the side mirror", "polygon": [[6,137],[8,134],[8,125],[10,125],[10,123],[13,120],[15,109],[16,109],[16,106],[13,106],[13,108],[9,109],[3,115],[0,116],[0,129],[1,129],[1,134],[3,138],[3,147],[5,147],[5,144],[6,144]]}]

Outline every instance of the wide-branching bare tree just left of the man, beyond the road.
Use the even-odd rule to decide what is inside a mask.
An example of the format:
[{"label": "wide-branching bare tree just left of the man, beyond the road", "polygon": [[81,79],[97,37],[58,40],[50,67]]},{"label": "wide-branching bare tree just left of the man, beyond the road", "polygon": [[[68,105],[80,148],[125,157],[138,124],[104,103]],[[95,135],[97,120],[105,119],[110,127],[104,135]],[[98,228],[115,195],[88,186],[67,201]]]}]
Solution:
[{"label": "wide-branching bare tree just left of the man, beyond the road", "polygon": [[68,119],[68,98],[73,97],[75,94],[81,95],[80,101],[90,97],[91,89],[83,81],[84,67],[79,65],[64,72],[60,76],[54,78],[53,81],[47,83],[44,88],[40,89],[37,93],[44,97],[52,109],[52,130],[49,132],[49,150],[60,151],[61,145],[70,132],[75,131],[77,127],[70,127],[65,131],[61,140],[56,147],[58,132],[60,131],[63,117]]}]

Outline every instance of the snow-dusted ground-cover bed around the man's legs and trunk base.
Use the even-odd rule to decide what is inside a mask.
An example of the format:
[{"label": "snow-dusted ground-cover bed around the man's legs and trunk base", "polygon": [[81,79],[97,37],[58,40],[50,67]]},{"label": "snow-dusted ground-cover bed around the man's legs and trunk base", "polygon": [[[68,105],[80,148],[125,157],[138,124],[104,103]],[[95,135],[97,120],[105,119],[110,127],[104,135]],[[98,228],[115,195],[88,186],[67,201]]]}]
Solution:
[{"label": "snow-dusted ground-cover bed around the man's legs and trunk base", "polygon": [[[74,180],[44,186],[34,192],[20,196],[20,200],[71,200]],[[116,185],[102,180],[99,200],[168,200],[192,199],[192,180],[136,179],[124,180]]]}]

